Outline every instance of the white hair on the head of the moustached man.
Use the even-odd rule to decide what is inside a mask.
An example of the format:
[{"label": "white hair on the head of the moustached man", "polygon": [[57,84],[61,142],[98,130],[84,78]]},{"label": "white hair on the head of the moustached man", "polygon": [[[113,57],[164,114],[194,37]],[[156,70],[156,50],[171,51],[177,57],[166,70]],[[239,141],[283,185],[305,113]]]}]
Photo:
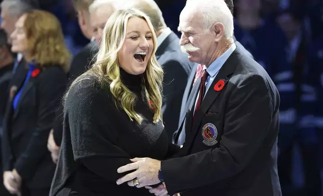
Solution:
[{"label": "white hair on the head of the moustached man", "polygon": [[224,35],[227,39],[233,37],[233,15],[224,0],[187,0],[184,9],[196,11],[203,17],[206,32],[212,25],[221,22],[224,25]]}]

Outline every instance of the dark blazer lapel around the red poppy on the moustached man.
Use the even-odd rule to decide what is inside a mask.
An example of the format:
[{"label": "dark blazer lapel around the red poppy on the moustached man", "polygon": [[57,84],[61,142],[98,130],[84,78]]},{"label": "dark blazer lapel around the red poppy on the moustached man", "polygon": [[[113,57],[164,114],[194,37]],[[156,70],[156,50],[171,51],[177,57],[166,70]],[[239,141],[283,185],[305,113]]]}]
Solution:
[{"label": "dark blazer lapel around the red poppy on the moustached man", "polygon": [[[214,78],[212,84],[210,85],[210,88],[208,89],[206,95],[204,96],[200,109],[196,113],[195,120],[192,125],[192,137],[188,141],[188,146],[191,146],[196,133],[199,132],[198,129],[200,127],[202,118],[207,112],[207,110],[210,108],[210,106],[218,97],[218,95],[221,92],[225,91],[226,85],[228,84],[230,79],[229,75],[231,75],[234,72],[237,66],[237,63],[239,59],[242,57],[242,55],[243,54],[240,52],[240,49],[236,48],[233,51],[233,53],[229,56],[229,58],[226,60],[226,62],[223,64],[217,76]],[[221,79],[225,81],[224,88],[220,91],[216,91],[214,89],[214,85]],[[200,83],[200,82],[197,82],[197,83]]]}]

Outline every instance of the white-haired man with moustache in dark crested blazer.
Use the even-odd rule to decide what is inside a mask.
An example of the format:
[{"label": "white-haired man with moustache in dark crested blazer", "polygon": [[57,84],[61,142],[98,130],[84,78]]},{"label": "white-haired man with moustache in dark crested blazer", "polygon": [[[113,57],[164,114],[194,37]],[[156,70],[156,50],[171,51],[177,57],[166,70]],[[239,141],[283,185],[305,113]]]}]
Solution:
[{"label": "white-haired man with moustache in dark crested blazer", "polygon": [[[223,0],[189,0],[179,29],[183,51],[204,65],[188,98],[186,142],[167,160],[131,159],[117,171],[135,171],[117,184],[164,182],[170,195],[182,196],[280,196],[279,94],[261,65],[234,43],[228,6]],[[150,192],[160,195],[156,190]]]}]

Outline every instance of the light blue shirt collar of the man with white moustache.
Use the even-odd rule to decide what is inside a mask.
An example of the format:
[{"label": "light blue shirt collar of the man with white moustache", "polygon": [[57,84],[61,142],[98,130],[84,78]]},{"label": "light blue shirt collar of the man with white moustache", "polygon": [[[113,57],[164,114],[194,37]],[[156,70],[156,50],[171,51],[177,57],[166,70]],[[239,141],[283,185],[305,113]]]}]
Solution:
[{"label": "light blue shirt collar of the man with white moustache", "polygon": [[232,45],[217,59],[215,59],[210,66],[206,69],[211,77],[214,77],[222,67],[222,65],[227,61],[232,52],[237,48],[235,43]]}]

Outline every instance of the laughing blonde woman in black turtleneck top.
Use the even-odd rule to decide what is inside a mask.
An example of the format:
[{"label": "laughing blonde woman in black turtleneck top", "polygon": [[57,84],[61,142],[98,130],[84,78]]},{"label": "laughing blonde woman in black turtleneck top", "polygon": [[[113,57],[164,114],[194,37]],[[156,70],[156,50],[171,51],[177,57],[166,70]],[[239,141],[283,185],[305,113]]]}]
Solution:
[{"label": "laughing blonde woman in black turtleneck top", "polygon": [[165,159],[179,149],[169,144],[161,120],[163,70],[156,43],[141,11],[118,10],[108,19],[96,63],[66,95],[50,195],[151,195],[115,181],[121,177],[117,168],[131,158]]}]

